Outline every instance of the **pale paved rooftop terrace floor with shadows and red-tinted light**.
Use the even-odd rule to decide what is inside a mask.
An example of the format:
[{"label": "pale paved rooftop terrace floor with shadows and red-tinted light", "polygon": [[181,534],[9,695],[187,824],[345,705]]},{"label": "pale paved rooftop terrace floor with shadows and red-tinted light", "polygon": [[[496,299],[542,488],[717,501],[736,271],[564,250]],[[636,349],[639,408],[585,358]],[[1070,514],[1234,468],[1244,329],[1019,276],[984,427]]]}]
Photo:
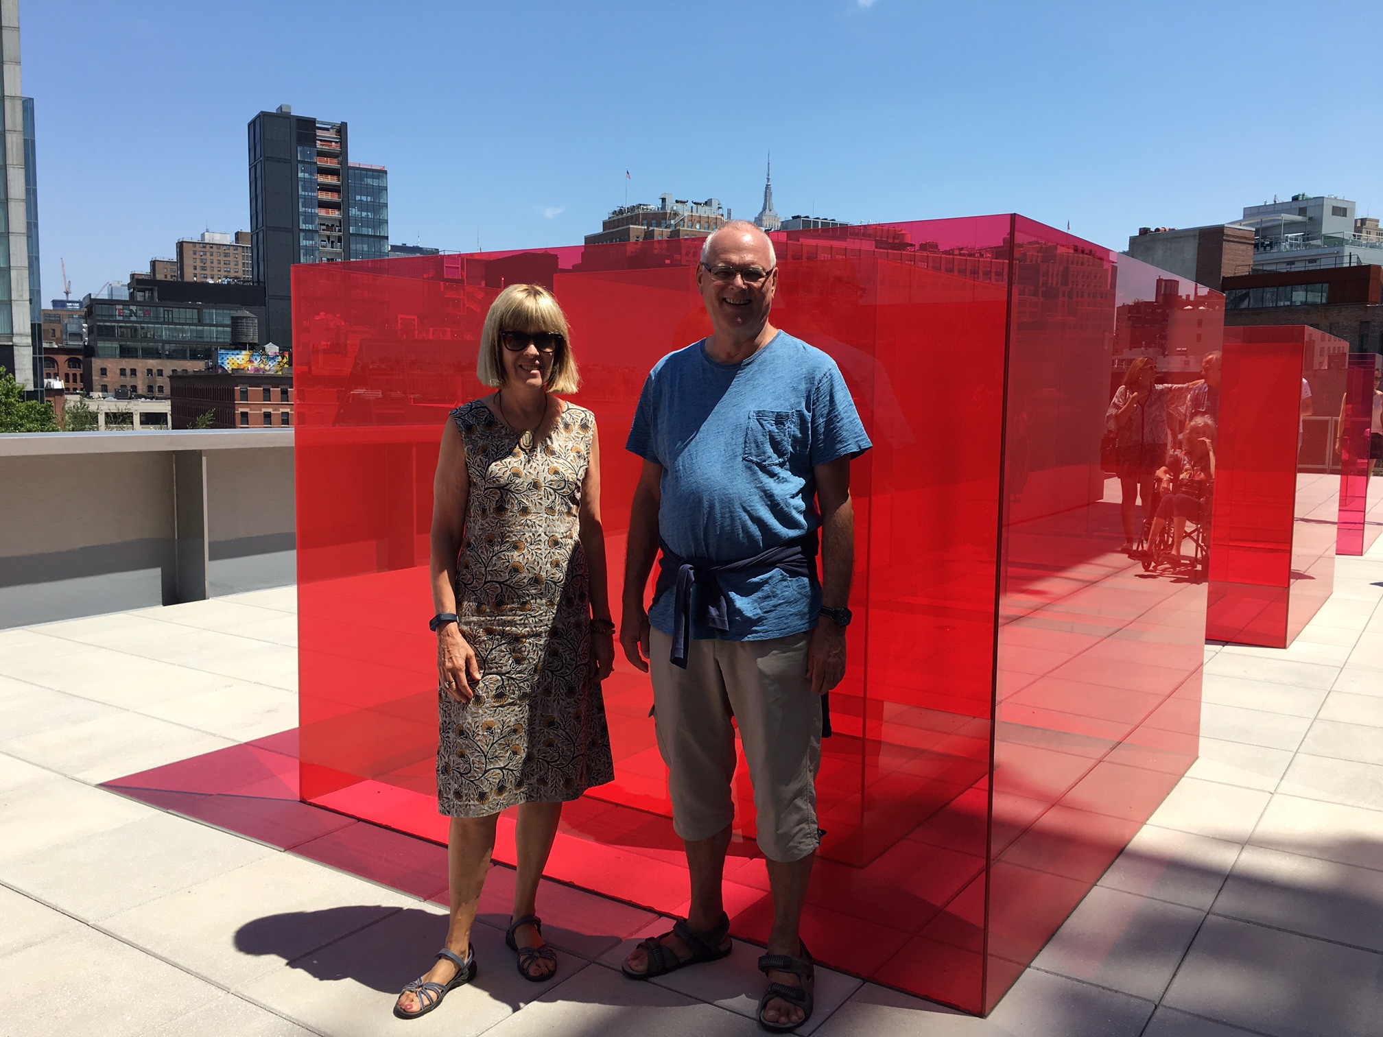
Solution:
[{"label": "pale paved rooftop terrace floor with shadows and red-tinted light", "polygon": [[[1285,651],[1206,647],[1200,759],[989,1019],[823,971],[802,1031],[1377,1034],[1383,541],[1335,586]],[[401,1031],[444,850],[296,802],[295,610],[282,588],[0,632],[0,1033]],[[252,784],[217,795],[228,769]],[[757,947],[632,983],[667,919],[560,884],[557,976],[524,982],[510,888],[495,866],[476,983],[408,1033],[761,1033]]]}]

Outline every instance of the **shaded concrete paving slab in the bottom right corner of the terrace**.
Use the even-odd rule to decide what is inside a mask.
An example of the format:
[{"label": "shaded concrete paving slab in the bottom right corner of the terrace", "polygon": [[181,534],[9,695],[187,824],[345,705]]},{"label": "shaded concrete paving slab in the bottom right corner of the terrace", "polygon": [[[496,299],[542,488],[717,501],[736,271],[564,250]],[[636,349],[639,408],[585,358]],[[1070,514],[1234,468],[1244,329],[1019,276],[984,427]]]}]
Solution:
[{"label": "shaded concrete paving slab in the bottom right corner of the terrace", "polygon": [[1376,1037],[1383,955],[1212,914],[1163,1004],[1281,1037]]}]

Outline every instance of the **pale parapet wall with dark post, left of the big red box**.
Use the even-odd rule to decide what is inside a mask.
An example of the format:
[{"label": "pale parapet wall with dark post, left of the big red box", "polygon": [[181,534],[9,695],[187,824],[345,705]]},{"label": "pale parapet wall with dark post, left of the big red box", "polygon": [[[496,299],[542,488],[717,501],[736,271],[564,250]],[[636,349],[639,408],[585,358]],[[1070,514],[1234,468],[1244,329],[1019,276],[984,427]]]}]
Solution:
[{"label": "pale parapet wall with dark post, left of the big red box", "polygon": [[0,628],[296,579],[292,430],[0,436]]}]

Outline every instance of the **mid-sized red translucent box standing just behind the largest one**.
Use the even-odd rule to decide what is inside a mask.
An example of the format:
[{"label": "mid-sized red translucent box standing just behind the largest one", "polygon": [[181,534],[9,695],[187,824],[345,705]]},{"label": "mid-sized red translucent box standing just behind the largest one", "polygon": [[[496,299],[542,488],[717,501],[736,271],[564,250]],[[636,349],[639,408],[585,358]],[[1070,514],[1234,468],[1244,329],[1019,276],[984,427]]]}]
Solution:
[{"label": "mid-sized red translucent box standing just behind the largest one", "polygon": [[1303,325],[1224,329],[1206,637],[1285,648],[1330,596],[1329,426],[1347,346]]}]

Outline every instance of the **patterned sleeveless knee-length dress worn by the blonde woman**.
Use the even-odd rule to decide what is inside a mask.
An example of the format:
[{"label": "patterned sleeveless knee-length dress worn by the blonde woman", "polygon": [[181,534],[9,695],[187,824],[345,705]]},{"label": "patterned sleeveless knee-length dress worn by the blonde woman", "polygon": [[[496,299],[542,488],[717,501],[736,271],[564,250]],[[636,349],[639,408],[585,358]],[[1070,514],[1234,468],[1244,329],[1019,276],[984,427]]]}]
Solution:
[{"label": "patterned sleeveless knee-length dress worn by the blonde woman", "polygon": [[466,705],[438,687],[437,810],[575,799],[614,780],[577,539],[595,418],[567,404],[528,451],[479,400],[451,419],[470,487],[456,614],[481,678]]}]

